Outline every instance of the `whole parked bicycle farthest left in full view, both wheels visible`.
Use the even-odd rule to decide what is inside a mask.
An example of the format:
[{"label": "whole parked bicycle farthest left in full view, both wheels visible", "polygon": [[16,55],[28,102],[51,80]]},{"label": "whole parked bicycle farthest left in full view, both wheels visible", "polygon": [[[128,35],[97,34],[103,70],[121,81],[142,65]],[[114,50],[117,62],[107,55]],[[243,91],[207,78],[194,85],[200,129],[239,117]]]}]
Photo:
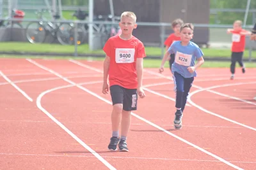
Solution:
[{"label": "whole parked bicycle farthest left in full view, both wheels visible", "polygon": [[[56,39],[61,45],[72,45],[74,44],[74,24],[60,23],[60,22],[49,22],[44,18],[43,13],[46,10],[36,11],[38,15],[38,22],[30,22],[26,27],[26,38],[30,43],[44,43],[47,35],[52,36],[53,43]],[[52,16],[54,20],[58,20],[60,15],[56,14]]]}]

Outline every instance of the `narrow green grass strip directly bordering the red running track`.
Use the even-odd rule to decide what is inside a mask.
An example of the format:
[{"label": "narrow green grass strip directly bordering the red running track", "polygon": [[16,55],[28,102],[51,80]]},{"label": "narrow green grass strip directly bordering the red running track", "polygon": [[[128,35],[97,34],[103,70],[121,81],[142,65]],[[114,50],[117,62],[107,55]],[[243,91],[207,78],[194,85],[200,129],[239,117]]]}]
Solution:
[{"label": "narrow green grass strip directly bordering the red running track", "polygon": [[[0,55],[0,58],[12,58],[12,59],[25,59],[25,58],[33,58],[33,59],[76,59],[76,60],[104,60],[104,57],[43,57],[43,56],[27,56],[27,55]],[[244,62],[246,67],[248,68],[255,68],[256,62]],[[158,68],[161,65],[160,59],[144,59],[144,67],[145,68]],[[168,62],[164,65],[164,67],[168,68]],[[230,62],[212,62],[212,61],[205,61],[202,67],[206,68],[229,68]],[[237,64],[237,67],[239,65]]]}]

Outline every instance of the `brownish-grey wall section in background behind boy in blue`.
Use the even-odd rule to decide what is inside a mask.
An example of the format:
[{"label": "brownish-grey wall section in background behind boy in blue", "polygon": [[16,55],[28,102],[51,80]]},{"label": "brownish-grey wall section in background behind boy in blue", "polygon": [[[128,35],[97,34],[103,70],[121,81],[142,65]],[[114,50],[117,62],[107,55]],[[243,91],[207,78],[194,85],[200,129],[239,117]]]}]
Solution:
[{"label": "brownish-grey wall section in background behind boy in blue", "polygon": [[[172,33],[171,23],[176,18],[193,24],[209,24],[209,0],[162,0],[160,22],[169,22],[166,33]],[[209,43],[209,28],[195,27],[193,41],[198,45]]]}]

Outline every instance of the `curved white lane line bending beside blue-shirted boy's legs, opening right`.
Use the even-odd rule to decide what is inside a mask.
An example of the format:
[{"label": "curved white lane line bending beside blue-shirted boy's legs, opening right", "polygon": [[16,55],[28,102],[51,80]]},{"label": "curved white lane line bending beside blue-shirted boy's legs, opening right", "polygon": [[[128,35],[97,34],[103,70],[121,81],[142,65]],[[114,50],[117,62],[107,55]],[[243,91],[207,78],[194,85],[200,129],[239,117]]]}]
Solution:
[{"label": "curved white lane line bending beside blue-shirted boy's legs, opening right", "polygon": [[209,87],[209,88],[205,88],[205,89],[195,90],[195,91],[191,92],[191,94],[189,94],[189,96],[188,96],[188,102],[189,102],[192,106],[195,106],[196,108],[198,108],[198,109],[204,111],[205,113],[209,113],[210,115],[213,115],[213,116],[215,116],[215,117],[222,118],[222,119],[224,119],[224,120],[227,120],[228,122],[232,122],[232,123],[234,123],[234,124],[241,125],[241,126],[246,127],[246,128],[248,128],[248,129],[252,129],[253,131],[256,131],[256,129],[255,129],[254,127],[250,127],[250,126],[248,126],[248,125],[241,124],[241,123],[236,122],[236,121],[234,121],[234,120],[231,120],[231,119],[229,119],[229,118],[226,118],[226,117],[223,117],[223,116],[218,115],[218,114],[216,114],[216,113],[213,113],[212,111],[206,110],[205,108],[202,108],[202,107],[199,106],[198,104],[195,104],[193,101],[191,101],[191,96],[195,95],[195,94],[198,93],[198,92],[202,92],[202,91],[204,91],[204,90],[207,91],[207,90],[214,89],[214,88],[218,88],[218,87],[230,87],[230,86],[234,86],[234,85],[247,85],[247,84],[255,84],[255,83],[256,83],[256,81],[254,81],[254,82],[247,82],[247,83],[232,83],[232,84],[225,84],[225,85],[216,85],[216,86]]}]

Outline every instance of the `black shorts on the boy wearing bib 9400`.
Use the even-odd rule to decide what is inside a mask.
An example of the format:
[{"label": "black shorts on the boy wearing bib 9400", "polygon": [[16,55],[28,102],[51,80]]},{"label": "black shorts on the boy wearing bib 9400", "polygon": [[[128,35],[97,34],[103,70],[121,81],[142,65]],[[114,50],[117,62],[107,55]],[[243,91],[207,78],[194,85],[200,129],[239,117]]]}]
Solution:
[{"label": "black shorts on the boy wearing bib 9400", "polygon": [[125,111],[137,110],[137,89],[125,89],[120,85],[111,85],[109,89],[113,105],[123,104]]}]

